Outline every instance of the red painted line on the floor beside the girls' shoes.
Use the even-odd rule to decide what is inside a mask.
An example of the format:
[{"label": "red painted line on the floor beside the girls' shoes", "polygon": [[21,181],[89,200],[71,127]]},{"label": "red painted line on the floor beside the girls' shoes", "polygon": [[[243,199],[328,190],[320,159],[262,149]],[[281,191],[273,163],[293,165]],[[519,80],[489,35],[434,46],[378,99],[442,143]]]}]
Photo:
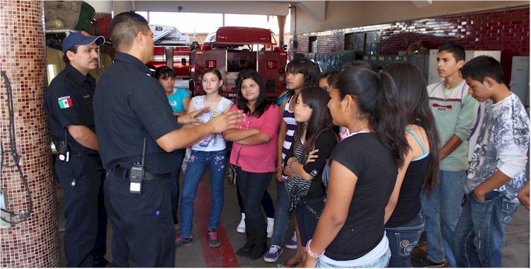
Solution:
[{"label": "red painted line on the floor beside the girls' shoes", "polygon": [[[221,240],[221,246],[212,248],[208,245],[207,229],[210,217],[210,191],[207,188],[205,179],[201,178],[198,190],[195,192],[194,199],[194,220],[195,229],[199,233],[199,241],[201,242],[202,253],[205,256],[207,267],[212,268],[239,268],[240,265],[236,259],[234,249],[227,237],[227,233],[223,228],[221,220],[217,227],[217,238]],[[226,205],[224,205],[226,206]]]}]

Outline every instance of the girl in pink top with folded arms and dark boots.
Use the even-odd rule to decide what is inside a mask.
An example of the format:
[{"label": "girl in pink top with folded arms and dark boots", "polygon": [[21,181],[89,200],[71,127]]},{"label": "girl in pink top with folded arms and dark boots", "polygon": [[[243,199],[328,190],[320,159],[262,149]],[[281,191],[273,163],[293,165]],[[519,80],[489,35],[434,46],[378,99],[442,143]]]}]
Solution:
[{"label": "girl in pink top with folded arms and dark boots", "polygon": [[246,244],[236,256],[249,261],[268,250],[265,218],[260,203],[265,188],[276,171],[277,132],[280,109],[265,97],[263,79],[254,70],[244,70],[236,79],[237,99],[232,110],[244,110],[241,130],[227,130],[224,138],[234,142],[230,163],[236,165],[238,191],[246,214]]}]

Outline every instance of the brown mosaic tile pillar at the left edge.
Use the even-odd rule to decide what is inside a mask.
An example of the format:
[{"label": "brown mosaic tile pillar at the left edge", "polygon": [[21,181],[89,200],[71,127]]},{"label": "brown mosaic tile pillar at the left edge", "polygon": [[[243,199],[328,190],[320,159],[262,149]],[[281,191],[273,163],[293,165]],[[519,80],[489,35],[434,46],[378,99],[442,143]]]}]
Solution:
[{"label": "brown mosaic tile pillar at the left edge", "polygon": [[[59,267],[57,198],[42,96],[46,85],[43,1],[0,0],[0,69],[11,82],[13,123],[18,164],[33,201],[28,219],[0,229],[0,268]],[[8,94],[0,79],[0,143],[4,164],[15,161],[6,151],[10,140]],[[18,168],[3,167],[0,187],[8,196],[7,209],[28,212],[28,194]],[[11,217],[12,222],[20,219]]]}]

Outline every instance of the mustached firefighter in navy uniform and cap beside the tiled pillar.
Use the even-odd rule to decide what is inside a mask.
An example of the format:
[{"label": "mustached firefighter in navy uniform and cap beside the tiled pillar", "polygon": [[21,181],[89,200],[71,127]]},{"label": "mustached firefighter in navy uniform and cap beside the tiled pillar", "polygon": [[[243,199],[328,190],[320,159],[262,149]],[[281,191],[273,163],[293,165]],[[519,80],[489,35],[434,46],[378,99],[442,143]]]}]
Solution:
[{"label": "mustached firefighter in navy uniform and cap beside the tiled pillar", "polygon": [[[64,38],[67,67],[52,80],[44,95],[52,141],[59,151],[55,171],[64,193],[67,267],[103,267],[107,263],[103,257],[107,226],[103,203],[98,225],[98,193],[103,196],[99,190],[105,171],[98,154],[92,106],[96,80],[89,74],[98,67],[97,50],[103,42],[103,36],[94,37],[84,31]],[[96,238],[99,246],[95,247]]]}]

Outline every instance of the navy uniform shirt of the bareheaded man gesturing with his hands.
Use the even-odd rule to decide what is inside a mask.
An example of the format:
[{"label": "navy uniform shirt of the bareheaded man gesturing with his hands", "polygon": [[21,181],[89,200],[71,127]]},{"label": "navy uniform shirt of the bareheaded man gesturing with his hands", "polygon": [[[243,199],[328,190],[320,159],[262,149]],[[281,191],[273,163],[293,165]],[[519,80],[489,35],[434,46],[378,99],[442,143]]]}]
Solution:
[{"label": "navy uniform shirt of the bareheaded man gesturing with his hands", "polygon": [[142,159],[146,137],[145,171],[176,171],[177,154],[155,140],[181,127],[159,81],[136,57],[118,52],[113,65],[98,80],[94,115],[103,168],[130,168]]}]

